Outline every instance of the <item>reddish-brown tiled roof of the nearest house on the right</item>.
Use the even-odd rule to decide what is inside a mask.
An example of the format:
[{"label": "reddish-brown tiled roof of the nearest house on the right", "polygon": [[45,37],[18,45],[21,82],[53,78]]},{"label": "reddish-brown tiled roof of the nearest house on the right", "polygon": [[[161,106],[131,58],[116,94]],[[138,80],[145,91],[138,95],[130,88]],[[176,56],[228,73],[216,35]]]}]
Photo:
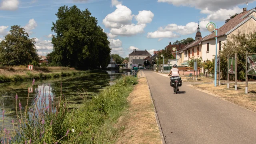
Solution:
[{"label": "reddish-brown tiled roof of the nearest house on the right", "polygon": [[[234,18],[229,20],[226,24],[224,24],[223,26],[218,28],[218,37],[224,36],[228,31],[232,30],[232,28],[236,27],[238,24],[240,24],[242,21],[244,21],[246,18],[243,18],[243,19],[240,19],[240,18],[242,18],[242,16],[244,16],[245,14],[247,14],[250,11],[251,10],[248,10],[247,12],[242,12],[242,13],[238,14],[237,16],[235,16]],[[215,33],[213,32],[207,38],[202,40],[202,42],[206,41],[206,40],[210,40],[210,39],[214,38],[214,36],[215,36]]]}]

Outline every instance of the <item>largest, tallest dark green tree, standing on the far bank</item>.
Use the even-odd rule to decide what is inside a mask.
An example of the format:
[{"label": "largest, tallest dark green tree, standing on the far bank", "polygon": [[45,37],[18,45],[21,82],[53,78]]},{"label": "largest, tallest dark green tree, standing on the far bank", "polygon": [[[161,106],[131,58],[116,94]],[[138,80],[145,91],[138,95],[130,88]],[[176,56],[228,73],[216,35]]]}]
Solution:
[{"label": "largest, tallest dark green tree, standing on the far bank", "polygon": [[76,5],[62,6],[52,23],[53,52],[50,62],[58,66],[75,68],[106,67],[110,62],[110,42],[98,26],[98,20],[90,11],[80,10]]}]

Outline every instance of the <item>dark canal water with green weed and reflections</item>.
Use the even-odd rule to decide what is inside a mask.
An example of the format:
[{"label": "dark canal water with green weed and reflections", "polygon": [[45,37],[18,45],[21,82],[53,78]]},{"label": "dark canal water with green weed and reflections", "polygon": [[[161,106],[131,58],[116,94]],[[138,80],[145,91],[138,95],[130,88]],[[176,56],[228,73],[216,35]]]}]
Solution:
[{"label": "dark canal water with green weed and reflections", "polygon": [[[93,73],[80,75],[76,77],[61,78],[58,80],[44,80],[36,81],[32,89],[28,89],[31,82],[17,82],[17,83],[6,83],[0,84],[0,117],[2,117],[2,110],[4,109],[5,117],[7,121],[15,119],[16,116],[16,101],[15,95],[18,95],[18,98],[22,104],[22,108],[27,104],[28,106],[35,105],[35,98],[38,98],[39,92],[41,91],[40,99],[42,98],[42,93],[46,94],[46,102],[49,103],[48,93],[53,96],[59,96],[61,87],[62,93],[66,97],[66,100],[69,103],[79,104],[82,102],[82,98],[76,94],[77,90],[82,88],[88,92],[88,96],[94,96],[95,93],[100,92],[103,88],[110,85],[113,80],[120,78],[122,74],[117,70],[106,71],[102,73]],[[62,85],[61,85],[62,82]],[[29,93],[28,93],[29,92]],[[17,102],[18,103],[18,102]],[[19,109],[19,108],[18,108]],[[1,118],[2,120],[2,118]]]}]

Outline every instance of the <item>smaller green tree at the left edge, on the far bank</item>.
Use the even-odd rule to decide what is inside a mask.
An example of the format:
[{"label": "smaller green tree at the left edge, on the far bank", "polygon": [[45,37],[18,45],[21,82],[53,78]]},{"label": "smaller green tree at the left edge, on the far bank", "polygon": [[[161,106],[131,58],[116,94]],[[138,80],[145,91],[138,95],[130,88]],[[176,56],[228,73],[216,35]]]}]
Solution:
[{"label": "smaller green tree at the left edge, on the far bank", "polygon": [[10,33],[0,43],[0,65],[27,65],[38,62],[38,54],[34,38],[29,38],[24,28],[12,26]]}]

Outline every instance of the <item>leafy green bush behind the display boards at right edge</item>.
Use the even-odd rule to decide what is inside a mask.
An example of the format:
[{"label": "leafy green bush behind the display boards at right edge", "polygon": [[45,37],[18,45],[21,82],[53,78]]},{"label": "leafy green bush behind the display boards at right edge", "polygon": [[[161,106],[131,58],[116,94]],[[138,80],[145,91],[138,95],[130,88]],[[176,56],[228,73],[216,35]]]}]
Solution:
[{"label": "leafy green bush behind the display boards at right edge", "polygon": [[[222,44],[224,49],[220,52],[220,66],[222,72],[222,78],[227,79],[228,71],[228,54],[230,56],[237,53],[237,72],[238,79],[242,80],[245,78],[245,62],[246,62],[246,50],[248,53],[256,53],[256,33],[254,34],[238,34],[231,35],[231,38],[226,44]],[[252,77],[250,77],[252,78]]]}]

